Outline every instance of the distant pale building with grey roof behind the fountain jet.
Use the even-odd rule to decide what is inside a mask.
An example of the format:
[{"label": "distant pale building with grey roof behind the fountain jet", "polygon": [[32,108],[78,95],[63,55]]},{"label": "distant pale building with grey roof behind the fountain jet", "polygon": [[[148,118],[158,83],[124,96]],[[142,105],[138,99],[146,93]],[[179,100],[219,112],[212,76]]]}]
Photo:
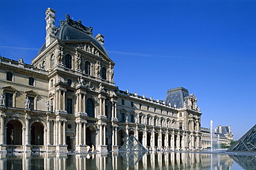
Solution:
[{"label": "distant pale building with grey roof behind the fountain jet", "polygon": [[[228,127],[218,126],[214,131],[212,131],[212,141],[213,147],[215,149],[219,148],[218,145],[221,144],[225,146],[230,146],[230,142],[233,140],[233,134],[230,129],[230,125]],[[201,127],[201,144],[202,149],[210,148],[210,129]]]}]

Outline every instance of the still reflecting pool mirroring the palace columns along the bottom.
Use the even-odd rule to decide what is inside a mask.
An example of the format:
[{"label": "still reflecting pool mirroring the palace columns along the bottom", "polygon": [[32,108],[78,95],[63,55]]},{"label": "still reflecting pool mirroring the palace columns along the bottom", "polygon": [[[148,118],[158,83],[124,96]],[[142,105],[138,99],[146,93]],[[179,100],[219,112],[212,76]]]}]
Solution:
[{"label": "still reflecting pool mirroring the palace columns along the bottom", "polygon": [[0,169],[256,169],[256,155],[192,152],[0,155]]}]

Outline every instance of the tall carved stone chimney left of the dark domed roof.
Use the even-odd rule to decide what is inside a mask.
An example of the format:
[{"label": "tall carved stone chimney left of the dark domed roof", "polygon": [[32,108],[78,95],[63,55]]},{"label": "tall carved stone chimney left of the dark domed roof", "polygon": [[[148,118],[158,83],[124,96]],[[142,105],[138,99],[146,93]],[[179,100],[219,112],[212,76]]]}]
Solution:
[{"label": "tall carved stone chimney left of the dark domed roof", "polygon": [[46,47],[55,40],[55,10],[47,8],[46,10]]}]

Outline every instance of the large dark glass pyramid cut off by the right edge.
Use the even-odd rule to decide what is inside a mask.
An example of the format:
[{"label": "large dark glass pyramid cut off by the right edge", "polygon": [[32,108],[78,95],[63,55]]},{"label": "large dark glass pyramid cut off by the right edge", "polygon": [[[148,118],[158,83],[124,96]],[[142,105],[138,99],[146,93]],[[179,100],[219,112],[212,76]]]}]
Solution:
[{"label": "large dark glass pyramid cut off by the right edge", "polygon": [[228,151],[256,151],[256,125],[235,142]]}]

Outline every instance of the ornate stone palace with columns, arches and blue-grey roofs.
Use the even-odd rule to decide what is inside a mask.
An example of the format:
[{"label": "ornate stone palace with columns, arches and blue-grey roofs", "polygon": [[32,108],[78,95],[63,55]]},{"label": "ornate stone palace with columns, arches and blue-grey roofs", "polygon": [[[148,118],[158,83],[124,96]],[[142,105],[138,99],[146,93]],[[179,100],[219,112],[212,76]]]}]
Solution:
[{"label": "ornate stone palace with columns, arches and blue-grey roofs", "polygon": [[92,30],[68,14],[56,27],[48,8],[32,63],[0,56],[1,153],[118,151],[131,134],[149,150],[201,149],[194,94],[178,87],[154,100],[118,89],[104,36]]}]

